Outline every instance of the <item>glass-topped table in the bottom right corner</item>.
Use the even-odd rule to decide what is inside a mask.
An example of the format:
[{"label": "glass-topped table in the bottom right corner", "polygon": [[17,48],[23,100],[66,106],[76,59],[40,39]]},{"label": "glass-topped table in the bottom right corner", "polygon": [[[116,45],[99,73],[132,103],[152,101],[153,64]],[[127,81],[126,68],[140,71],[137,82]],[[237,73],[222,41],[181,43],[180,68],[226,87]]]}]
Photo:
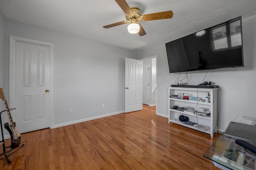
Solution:
[{"label": "glass-topped table in the bottom right corner", "polygon": [[[238,115],[234,122],[256,126],[256,117]],[[236,144],[236,139],[238,138],[226,136],[223,132],[203,156],[223,170],[256,170],[256,154]],[[256,147],[256,142],[245,141]]]}]

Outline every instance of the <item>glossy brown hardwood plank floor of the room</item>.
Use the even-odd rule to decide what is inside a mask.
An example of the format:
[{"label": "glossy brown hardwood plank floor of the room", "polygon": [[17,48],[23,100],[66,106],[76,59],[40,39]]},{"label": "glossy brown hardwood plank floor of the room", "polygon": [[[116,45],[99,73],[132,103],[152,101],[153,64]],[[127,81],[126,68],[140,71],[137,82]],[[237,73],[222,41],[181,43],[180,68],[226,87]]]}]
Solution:
[{"label": "glossy brown hardwood plank floor of the room", "polygon": [[[218,169],[202,155],[217,139],[156,115],[156,107],[21,135],[1,170]],[[7,140],[6,146],[10,145]],[[7,143],[9,145],[7,145]],[[2,153],[2,146],[1,153]]]}]

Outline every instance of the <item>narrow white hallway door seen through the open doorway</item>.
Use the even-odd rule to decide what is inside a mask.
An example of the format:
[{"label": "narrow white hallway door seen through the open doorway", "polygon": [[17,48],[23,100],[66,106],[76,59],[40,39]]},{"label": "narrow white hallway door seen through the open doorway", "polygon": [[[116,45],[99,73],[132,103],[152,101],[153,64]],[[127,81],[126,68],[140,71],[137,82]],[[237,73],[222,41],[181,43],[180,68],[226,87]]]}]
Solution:
[{"label": "narrow white hallway door seen through the open doorway", "polygon": [[142,103],[149,105],[149,64],[143,64]]}]

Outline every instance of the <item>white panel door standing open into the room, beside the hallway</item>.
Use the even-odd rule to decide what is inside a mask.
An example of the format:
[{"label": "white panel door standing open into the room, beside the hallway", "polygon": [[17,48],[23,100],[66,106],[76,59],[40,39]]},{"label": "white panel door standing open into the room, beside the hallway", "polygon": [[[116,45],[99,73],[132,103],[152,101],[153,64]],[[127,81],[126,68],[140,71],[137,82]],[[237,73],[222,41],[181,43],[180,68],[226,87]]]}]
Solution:
[{"label": "white panel door standing open into the room, beside the hallway", "polygon": [[142,61],[126,58],[124,112],[138,110],[142,110]]}]

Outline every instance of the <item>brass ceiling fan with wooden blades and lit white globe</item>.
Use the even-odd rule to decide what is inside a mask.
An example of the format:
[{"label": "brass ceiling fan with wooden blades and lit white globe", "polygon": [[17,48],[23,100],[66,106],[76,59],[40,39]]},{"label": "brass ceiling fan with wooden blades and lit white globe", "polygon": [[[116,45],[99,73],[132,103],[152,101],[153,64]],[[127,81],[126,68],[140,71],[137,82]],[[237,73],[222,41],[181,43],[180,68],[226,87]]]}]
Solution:
[{"label": "brass ceiling fan with wooden blades and lit white globe", "polygon": [[127,21],[116,22],[114,24],[103,26],[103,28],[111,28],[114,26],[120,26],[122,24],[126,24],[130,22],[131,24],[128,25],[128,32],[131,34],[138,33],[140,36],[144,36],[146,35],[146,32],[143,29],[142,25],[139,23],[139,21],[169,19],[169,18],[172,18],[173,16],[172,11],[157,12],[157,13],[142,15],[139,8],[137,7],[130,8],[125,0],[115,0],[115,1],[126,14]]}]

